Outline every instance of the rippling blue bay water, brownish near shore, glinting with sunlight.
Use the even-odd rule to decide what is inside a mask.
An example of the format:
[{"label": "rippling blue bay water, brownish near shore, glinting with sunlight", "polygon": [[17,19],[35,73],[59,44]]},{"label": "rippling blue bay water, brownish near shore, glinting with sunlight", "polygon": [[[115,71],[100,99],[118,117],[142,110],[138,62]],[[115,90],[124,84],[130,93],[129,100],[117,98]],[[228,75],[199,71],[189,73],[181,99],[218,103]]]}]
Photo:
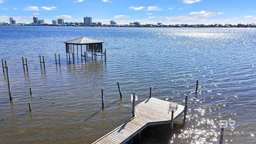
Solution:
[{"label": "rippling blue bay water, brownish near shore, glinting with sunlight", "polygon": [[[256,29],[0,26],[0,32],[13,92],[10,102],[0,74],[0,143],[90,144],[130,120],[130,94],[136,91],[142,102],[150,86],[153,97],[180,104],[188,94],[188,115],[173,136],[169,126],[147,128],[142,144],[215,144],[220,120],[236,122],[225,128],[224,143],[256,143]],[[79,56],[68,64],[63,42],[83,36],[104,41],[106,62],[99,56],[85,64]]]}]

